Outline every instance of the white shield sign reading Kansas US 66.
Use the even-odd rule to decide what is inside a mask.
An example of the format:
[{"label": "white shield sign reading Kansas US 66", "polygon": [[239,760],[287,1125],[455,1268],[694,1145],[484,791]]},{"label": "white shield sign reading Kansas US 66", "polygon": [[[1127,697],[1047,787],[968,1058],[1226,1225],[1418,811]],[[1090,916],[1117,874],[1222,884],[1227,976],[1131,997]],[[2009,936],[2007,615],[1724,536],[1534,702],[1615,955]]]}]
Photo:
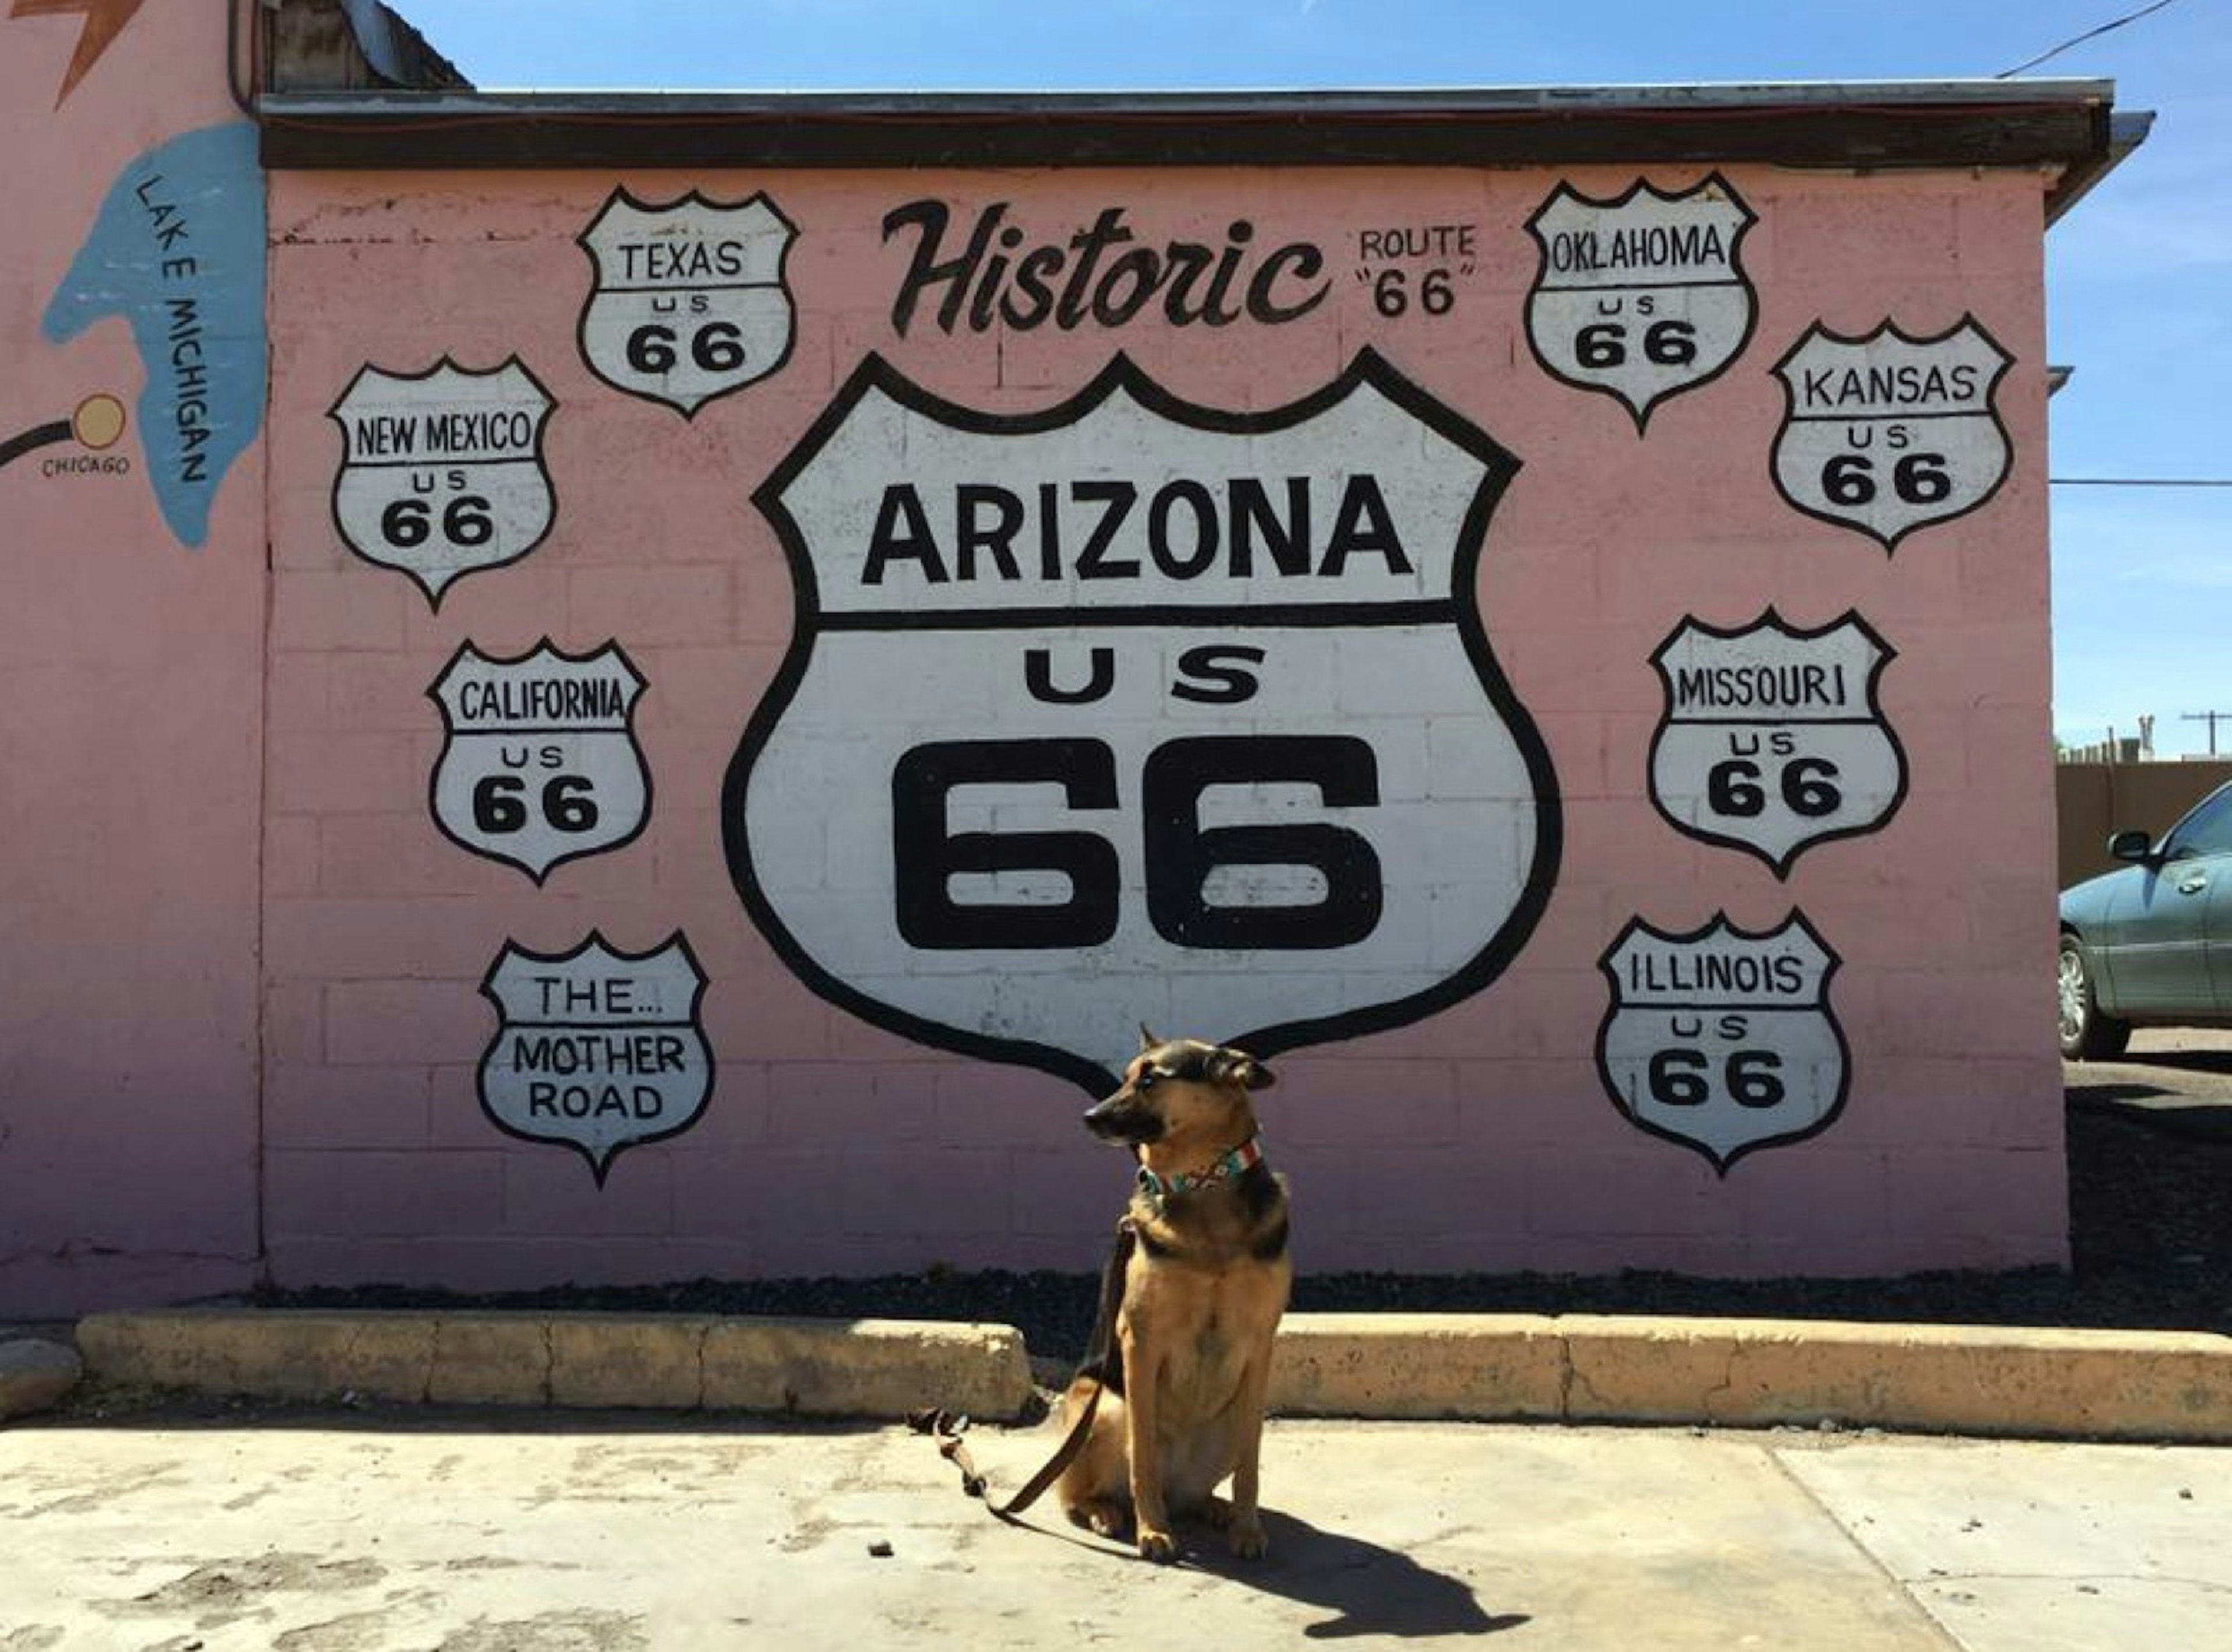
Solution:
[{"label": "white shield sign reading Kansas US 66", "polygon": [[1774,363],[1774,486],[1886,553],[1975,511],[2013,457],[1995,399],[2013,361],[1975,317],[1922,339],[1891,321],[1859,339],[1812,323]]}]

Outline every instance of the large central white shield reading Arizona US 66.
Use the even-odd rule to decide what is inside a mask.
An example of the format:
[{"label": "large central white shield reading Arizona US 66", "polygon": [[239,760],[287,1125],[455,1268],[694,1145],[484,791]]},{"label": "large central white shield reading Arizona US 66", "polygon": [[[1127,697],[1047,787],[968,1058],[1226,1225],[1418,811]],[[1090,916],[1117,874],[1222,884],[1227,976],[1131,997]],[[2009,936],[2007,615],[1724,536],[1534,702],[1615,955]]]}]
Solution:
[{"label": "large central white shield reading Arizona US 66", "polygon": [[1558,863],[1475,600],[1513,470],[1368,350],[1270,412],[868,357],[754,495],[799,613],[723,796],[745,907],[855,1014],[1087,1090],[1141,1021],[1268,1055],[1478,992]]}]

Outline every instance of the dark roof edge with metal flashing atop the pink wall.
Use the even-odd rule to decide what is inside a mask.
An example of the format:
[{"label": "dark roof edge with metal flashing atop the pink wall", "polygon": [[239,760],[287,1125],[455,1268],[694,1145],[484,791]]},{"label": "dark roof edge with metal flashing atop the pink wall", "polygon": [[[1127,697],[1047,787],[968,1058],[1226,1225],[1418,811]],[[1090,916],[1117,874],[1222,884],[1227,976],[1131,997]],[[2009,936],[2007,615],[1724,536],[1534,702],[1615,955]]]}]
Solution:
[{"label": "dark roof edge with metal flashing atop the pink wall", "polygon": [[2145,138],[2111,80],[1337,91],[263,94],[263,163],[328,167],[2040,167],[2049,216]]}]

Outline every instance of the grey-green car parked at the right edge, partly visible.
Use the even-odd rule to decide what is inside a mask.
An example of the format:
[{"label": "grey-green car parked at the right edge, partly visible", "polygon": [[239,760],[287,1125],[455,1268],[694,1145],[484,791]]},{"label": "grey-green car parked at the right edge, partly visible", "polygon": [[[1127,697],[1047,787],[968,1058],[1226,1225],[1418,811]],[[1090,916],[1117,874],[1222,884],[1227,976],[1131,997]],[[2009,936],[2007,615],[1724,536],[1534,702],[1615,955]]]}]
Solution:
[{"label": "grey-green car parked at the right edge, partly visible", "polygon": [[2062,1055],[2123,1052],[2134,1026],[2232,1026],[2232,785],[2161,845],[2118,832],[2129,865],[2062,892]]}]

